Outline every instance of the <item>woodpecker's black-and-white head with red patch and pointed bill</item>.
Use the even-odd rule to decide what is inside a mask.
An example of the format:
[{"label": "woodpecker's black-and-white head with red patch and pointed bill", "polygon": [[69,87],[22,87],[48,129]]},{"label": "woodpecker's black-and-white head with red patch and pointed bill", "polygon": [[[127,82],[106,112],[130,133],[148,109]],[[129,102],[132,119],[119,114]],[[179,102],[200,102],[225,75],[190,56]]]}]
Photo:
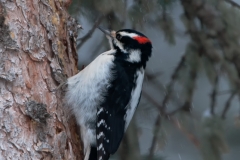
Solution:
[{"label": "woodpecker's black-and-white head with red patch and pointed bill", "polygon": [[117,51],[116,57],[130,63],[142,64],[145,68],[152,53],[152,43],[144,34],[132,29],[121,29],[117,32],[105,31],[104,33],[110,37],[111,45]]}]

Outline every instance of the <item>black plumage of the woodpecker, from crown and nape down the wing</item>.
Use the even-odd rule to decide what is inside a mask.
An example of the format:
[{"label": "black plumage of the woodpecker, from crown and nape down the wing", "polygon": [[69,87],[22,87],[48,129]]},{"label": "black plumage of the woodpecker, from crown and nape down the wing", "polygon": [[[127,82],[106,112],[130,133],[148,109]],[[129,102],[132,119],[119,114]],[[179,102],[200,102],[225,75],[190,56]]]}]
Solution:
[{"label": "black plumage of the woodpecker, from crown and nape down the wing", "polygon": [[[133,30],[120,31],[134,32],[144,36]],[[141,61],[127,61],[129,54],[123,53],[118,46],[113,44],[116,49],[113,61],[114,66],[111,68],[113,78],[110,80],[110,87],[108,86],[106,93],[104,93],[104,101],[97,108],[96,136],[98,160],[108,160],[110,154],[117,151],[125,132],[127,106],[131,100],[131,93],[136,87],[136,73],[141,68],[146,67],[146,62],[151,56],[151,43],[140,45],[127,36],[121,37],[121,42],[126,50],[128,48],[140,49]]]}]

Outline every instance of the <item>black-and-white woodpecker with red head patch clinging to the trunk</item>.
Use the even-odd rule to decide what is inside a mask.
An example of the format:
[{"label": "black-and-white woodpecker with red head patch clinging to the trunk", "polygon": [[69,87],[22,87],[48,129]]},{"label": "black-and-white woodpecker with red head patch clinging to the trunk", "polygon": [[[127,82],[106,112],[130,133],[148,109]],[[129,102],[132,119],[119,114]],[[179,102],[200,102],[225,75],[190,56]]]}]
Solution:
[{"label": "black-and-white woodpecker with red head patch clinging to the trunk", "polygon": [[140,101],[152,53],[151,41],[138,31],[99,29],[111,49],[66,82],[66,101],[80,125],[84,160],[108,160],[117,151]]}]

